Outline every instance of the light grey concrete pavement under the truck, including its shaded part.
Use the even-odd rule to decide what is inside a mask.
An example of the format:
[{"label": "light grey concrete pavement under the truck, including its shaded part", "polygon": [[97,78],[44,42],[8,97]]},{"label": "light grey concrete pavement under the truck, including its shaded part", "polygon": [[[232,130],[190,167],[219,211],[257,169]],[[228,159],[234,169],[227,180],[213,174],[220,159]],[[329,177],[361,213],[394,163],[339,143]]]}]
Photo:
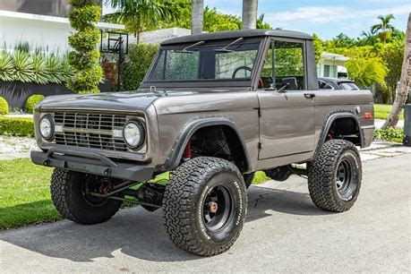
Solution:
[{"label": "light grey concrete pavement under the truck, including its shaded part", "polygon": [[242,235],[201,258],[177,249],[161,211],[121,210],[104,224],[69,221],[0,234],[0,272],[410,272],[411,154],[365,161],[360,196],[345,213],[317,209],[303,178],[249,190]]}]

